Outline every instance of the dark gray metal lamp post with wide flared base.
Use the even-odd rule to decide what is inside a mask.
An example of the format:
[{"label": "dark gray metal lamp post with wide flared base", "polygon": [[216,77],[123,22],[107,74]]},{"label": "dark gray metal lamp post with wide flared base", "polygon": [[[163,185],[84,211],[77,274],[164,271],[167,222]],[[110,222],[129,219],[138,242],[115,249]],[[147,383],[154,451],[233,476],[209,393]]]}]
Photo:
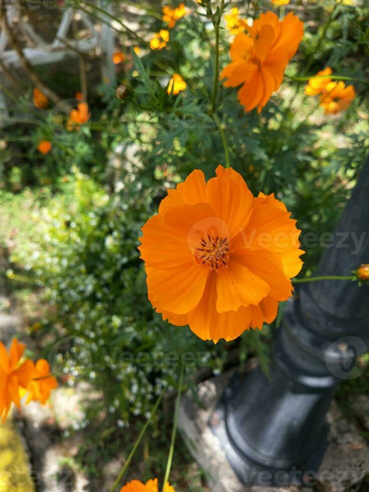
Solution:
[{"label": "dark gray metal lamp post with wide flared base", "polygon": [[[369,263],[369,160],[316,276],[350,275]],[[245,484],[308,484],[326,449],[325,415],[338,383],[369,345],[369,285],[301,284],[273,342],[272,377],[260,368],[225,389],[210,427]],[[215,424],[214,424],[215,423]]]}]

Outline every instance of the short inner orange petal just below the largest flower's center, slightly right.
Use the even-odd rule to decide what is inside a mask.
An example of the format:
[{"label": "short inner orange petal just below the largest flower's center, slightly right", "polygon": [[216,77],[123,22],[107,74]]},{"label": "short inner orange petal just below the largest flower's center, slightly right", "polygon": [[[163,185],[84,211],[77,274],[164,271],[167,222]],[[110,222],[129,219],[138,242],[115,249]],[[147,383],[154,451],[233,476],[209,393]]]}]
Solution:
[{"label": "short inner orange petal just below the largest flower's center, slightly right", "polygon": [[228,262],[228,268],[220,268],[217,276],[218,313],[258,304],[270,291],[269,285],[263,279],[233,260]]}]

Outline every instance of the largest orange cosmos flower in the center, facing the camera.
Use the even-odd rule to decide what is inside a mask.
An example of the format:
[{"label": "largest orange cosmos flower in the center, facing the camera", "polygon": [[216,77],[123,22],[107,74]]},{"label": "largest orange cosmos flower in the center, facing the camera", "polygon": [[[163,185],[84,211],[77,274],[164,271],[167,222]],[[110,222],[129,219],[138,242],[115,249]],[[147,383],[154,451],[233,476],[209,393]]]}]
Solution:
[{"label": "largest orange cosmos flower in the center, facing the camera", "polygon": [[254,198],[233,169],[219,166],[207,183],[193,171],[142,228],[153,307],[204,340],[261,329],[302,266],[295,224],[273,194]]}]

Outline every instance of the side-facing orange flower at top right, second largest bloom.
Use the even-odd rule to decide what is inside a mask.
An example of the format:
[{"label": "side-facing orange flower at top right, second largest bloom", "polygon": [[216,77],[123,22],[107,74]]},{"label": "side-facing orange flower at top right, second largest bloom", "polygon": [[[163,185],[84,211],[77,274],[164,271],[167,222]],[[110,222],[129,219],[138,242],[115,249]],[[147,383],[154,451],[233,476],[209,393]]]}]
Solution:
[{"label": "side-facing orange flower at top right, second largest bloom", "polygon": [[303,36],[303,23],[292,14],[279,22],[273,12],[261,14],[248,34],[238,34],[230,47],[232,59],[221,72],[226,87],[237,87],[238,100],[245,111],[262,110],[283,79],[287,63],[294,56]]}]

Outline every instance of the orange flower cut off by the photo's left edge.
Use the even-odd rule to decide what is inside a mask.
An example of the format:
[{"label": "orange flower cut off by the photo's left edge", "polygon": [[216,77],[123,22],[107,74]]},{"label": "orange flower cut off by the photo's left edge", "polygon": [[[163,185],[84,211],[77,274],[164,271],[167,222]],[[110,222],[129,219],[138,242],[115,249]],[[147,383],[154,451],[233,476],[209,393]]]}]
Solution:
[{"label": "orange flower cut off by the photo's left edge", "polygon": [[5,345],[0,342],[0,417],[3,417],[3,422],[12,402],[20,408],[20,389],[26,389],[31,381],[34,363],[29,359],[20,363],[25,348],[26,345],[18,343],[15,338],[8,354]]}]

